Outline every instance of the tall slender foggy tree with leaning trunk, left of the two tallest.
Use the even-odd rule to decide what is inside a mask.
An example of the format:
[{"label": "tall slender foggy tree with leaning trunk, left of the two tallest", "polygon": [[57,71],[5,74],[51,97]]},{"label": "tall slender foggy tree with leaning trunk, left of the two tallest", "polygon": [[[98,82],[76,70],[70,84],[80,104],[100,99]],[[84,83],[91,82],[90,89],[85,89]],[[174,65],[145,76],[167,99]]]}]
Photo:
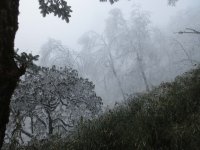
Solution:
[{"label": "tall slender foggy tree with leaning trunk, left of the two tallest", "polygon": [[126,21],[123,18],[123,14],[119,9],[113,9],[110,11],[110,17],[106,20],[105,36],[102,36],[102,42],[104,43],[104,49],[108,55],[108,66],[114,78],[117,81],[118,87],[121,91],[123,99],[126,99],[123,89],[122,81],[120,79],[119,64],[116,63],[116,57],[118,56],[118,50],[121,48],[119,43],[119,37],[124,37],[124,28],[126,28]]}]

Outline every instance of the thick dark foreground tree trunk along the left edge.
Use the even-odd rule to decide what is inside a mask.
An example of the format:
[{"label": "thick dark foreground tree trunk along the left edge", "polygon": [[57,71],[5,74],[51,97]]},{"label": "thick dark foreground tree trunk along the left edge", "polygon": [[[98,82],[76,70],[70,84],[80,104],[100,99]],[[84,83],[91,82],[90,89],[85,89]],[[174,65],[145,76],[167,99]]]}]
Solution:
[{"label": "thick dark foreground tree trunk along the left edge", "polygon": [[0,1],[0,149],[9,119],[11,96],[25,72],[14,61],[14,39],[18,29],[19,0]]}]

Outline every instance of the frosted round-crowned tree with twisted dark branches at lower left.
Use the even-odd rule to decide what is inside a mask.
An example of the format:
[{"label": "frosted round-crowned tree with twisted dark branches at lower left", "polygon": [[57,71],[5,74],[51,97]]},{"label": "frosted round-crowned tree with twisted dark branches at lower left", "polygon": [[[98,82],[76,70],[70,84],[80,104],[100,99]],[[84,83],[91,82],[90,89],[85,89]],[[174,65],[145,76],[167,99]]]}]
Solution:
[{"label": "frosted round-crowned tree with twisted dark branches at lower left", "polygon": [[[66,136],[83,119],[97,117],[102,99],[88,79],[71,68],[34,67],[22,77],[11,100],[7,142]],[[17,145],[15,145],[16,147]]]}]

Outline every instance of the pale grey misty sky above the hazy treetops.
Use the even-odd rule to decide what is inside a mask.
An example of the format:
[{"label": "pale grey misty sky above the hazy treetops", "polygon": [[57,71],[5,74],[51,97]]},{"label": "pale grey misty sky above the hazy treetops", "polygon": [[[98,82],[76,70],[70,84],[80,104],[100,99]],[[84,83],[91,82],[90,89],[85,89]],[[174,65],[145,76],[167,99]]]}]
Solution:
[{"label": "pale grey misty sky above the hazy treetops", "polygon": [[102,32],[105,19],[112,8],[120,8],[124,15],[128,16],[133,4],[140,5],[143,10],[150,12],[152,25],[165,27],[178,11],[195,6],[200,0],[179,0],[176,7],[168,6],[167,0],[121,0],[114,5],[100,3],[99,0],[67,2],[73,10],[68,24],[53,15],[43,18],[38,9],[38,0],[21,0],[15,47],[37,54],[49,38],[54,38],[74,50],[79,50],[78,38],[89,30]]}]

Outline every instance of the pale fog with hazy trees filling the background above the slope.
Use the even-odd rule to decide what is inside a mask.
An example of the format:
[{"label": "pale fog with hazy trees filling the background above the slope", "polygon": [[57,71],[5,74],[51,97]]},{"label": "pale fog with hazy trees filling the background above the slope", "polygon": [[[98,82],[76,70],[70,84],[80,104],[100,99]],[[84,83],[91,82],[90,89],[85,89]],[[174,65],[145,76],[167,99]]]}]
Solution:
[{"label": "pale fog with hazy trees filling the background above the slope", "polygon": [[40,55],[43,66],[69,66],[96,86],[104,105],[151,90],[200,60],[200,1],[69,0],[70,22],[43,18],[37,1],[21,0],[15,47]]}]

